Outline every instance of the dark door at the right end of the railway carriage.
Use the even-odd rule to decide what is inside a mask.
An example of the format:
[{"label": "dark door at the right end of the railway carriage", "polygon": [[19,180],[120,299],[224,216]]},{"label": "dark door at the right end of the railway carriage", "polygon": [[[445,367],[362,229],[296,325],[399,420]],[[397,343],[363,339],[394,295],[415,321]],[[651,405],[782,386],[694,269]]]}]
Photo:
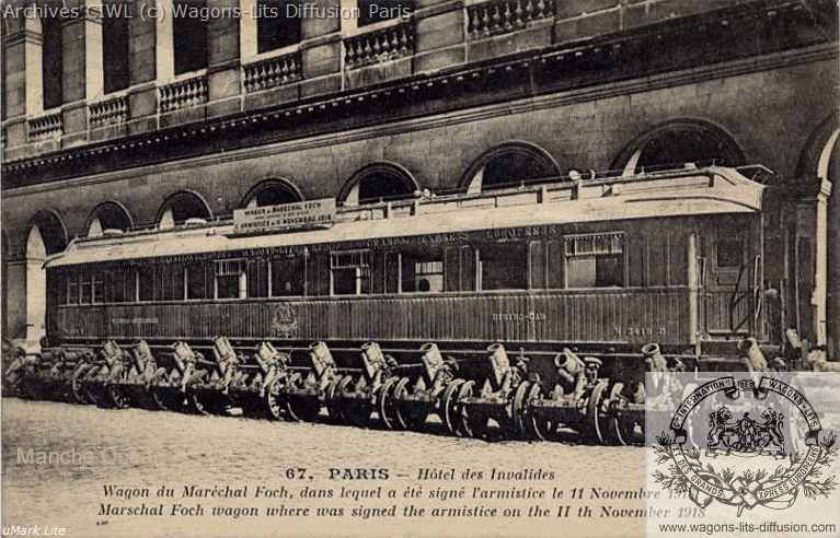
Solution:
[{"label": "dark door at the right end of the railway carriage", "polygon": [[710,337],[747,336],[751,330],[753,267],[743,235],[706,238],[705,329]]}]

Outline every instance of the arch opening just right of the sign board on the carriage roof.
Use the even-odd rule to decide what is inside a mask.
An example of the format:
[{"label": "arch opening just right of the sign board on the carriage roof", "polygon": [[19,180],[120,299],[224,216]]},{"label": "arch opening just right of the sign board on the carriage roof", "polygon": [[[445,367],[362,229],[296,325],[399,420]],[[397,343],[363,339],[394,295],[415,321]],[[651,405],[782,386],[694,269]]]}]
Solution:
[{"label": "arch opening just right of the sign board on the carriage roof", "polygon": [[414,176],[399,164],[372,163],[350,176],[338,192],[338,200],[358,206],[411,198],[418,190]]}]

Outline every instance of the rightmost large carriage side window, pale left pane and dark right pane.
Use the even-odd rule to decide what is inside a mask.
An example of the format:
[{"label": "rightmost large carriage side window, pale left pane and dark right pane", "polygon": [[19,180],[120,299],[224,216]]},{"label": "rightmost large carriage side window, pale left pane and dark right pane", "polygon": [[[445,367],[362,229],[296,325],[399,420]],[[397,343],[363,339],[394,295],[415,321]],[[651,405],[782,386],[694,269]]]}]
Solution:
[{"label": "rightmost large carriage side window, pale left pane and dark right pane", "polygon": [[568,288],[624,285],[624,234],[588,234],[566,237]]}]

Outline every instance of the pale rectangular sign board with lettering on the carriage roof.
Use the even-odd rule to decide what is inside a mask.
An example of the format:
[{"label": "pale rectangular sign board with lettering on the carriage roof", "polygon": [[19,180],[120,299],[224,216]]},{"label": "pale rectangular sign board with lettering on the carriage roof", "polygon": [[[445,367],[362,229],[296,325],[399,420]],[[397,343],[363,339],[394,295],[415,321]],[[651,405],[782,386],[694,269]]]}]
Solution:
[{"label": "pale rectangular sign board with lettering on the carriage roof", "polygon": [[334,198],[233,210],[233,231],[240,234],[320,227],[334,221]]}]

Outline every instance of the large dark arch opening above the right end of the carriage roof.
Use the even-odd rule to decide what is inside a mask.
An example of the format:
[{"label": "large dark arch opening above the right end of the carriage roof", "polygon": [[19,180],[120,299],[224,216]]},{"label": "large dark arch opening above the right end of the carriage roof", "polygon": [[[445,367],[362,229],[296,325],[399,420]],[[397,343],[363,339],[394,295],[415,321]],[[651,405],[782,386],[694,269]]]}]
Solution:
[{"label": "large dark arch opening above the right end of the carriage roof", "polygon": [[701,119],[660,124],[631,141],[613,161],[624,175],[644,169],[679,167],[687,163],[741,166],[744,151],[722,127]]}]

